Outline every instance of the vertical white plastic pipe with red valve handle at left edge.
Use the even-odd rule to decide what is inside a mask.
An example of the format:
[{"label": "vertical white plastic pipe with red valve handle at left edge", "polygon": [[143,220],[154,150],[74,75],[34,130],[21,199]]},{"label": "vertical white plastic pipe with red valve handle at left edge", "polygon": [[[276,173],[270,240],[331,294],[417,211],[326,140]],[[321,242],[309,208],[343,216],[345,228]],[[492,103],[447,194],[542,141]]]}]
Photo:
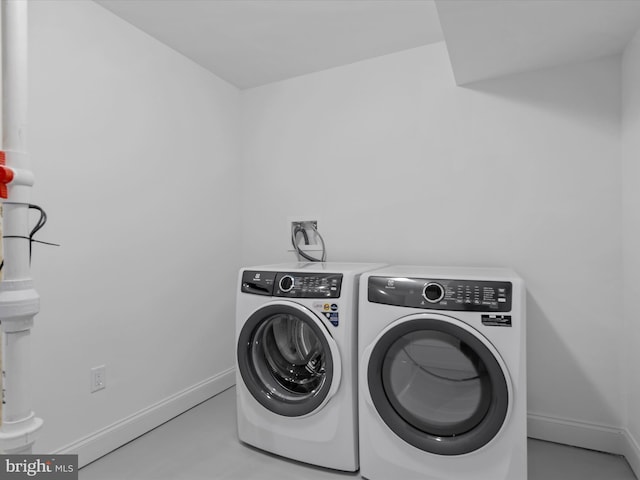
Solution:
[{"label": "vertical white plastic pipe with red valve handle at left edge", "polygon": [[[3,204],[3,235],[28,237],[33,174],[27,154],[27,9],[24,0],[1,1],[2,150],[7,166],[27,181],[9,184]],[[30,453],[42,420],[31,410],[31,327],[40,310],[29,268],[29,242],[3,238],[0,283],[3,398],[0,451]]]}]

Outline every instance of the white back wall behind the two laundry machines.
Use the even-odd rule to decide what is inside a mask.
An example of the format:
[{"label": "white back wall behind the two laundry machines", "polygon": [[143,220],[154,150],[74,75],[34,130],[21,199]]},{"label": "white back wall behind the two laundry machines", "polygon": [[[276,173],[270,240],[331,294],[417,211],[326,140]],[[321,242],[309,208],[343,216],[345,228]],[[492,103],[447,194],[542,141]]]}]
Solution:
[{"label": "white back wall behind the two laundry machines", "polygon": [[243,263],[313,215],[329,260],[512,266],[530,413],[621,427],[619,114],[619,57],[460,88],[444,44],[243,91]]}]

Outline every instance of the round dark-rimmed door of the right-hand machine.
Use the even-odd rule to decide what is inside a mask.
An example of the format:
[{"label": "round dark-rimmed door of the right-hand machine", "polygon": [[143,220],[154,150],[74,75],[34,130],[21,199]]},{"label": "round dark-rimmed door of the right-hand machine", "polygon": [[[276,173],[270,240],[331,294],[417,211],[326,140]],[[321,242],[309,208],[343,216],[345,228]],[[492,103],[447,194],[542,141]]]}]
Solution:
[{"label": "round dark-rimmed door of the right-hand machine", "polygon": [[513,395],[506,366],[467,324],[410,315],[389,325],[368,351],[373,405],[414,447],[463,455],[491,442],[507,421]]}]

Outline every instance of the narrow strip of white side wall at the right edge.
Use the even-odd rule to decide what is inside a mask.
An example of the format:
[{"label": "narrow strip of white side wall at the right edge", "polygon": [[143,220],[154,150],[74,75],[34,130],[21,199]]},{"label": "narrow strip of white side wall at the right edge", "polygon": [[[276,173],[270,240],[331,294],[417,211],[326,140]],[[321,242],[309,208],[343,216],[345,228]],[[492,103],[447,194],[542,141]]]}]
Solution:
[{"label": "narrow strip of white side wall at the right edge", "polygon": [[640,31],[624,52],[622,100],[624,333],[628,341],[620,381],[628,389],[628,431],[636,472],[640,472]]}]

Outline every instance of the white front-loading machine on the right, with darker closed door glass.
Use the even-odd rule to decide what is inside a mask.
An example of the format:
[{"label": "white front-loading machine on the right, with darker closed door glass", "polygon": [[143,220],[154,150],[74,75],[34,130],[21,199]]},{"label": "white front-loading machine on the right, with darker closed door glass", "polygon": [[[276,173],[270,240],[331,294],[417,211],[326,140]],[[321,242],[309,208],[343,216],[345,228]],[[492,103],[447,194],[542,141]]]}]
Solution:
[{"label": "white front-loading machine on the right, with darker closed door glass", "polygon": [[358,342],[363,477],[526,480],[525,287],[513,271],[366,273]]}]

